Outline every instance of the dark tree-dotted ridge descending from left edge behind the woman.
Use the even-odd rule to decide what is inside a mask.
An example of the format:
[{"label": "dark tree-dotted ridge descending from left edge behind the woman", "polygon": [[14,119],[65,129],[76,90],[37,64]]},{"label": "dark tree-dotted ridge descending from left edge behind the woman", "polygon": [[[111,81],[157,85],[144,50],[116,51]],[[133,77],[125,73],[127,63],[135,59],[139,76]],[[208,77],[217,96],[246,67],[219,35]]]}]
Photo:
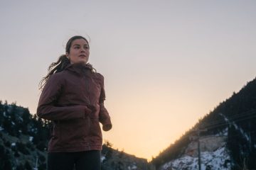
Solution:
[{"label": "dark tree-dotted ridge descending from left edge behind the woman", "polygon": [[[0,101],[0,169],[46,170],[50,122],[31,115],[28,108]],[[137,158],[105,142],[102,170],[151,169],[146,159]]]}]

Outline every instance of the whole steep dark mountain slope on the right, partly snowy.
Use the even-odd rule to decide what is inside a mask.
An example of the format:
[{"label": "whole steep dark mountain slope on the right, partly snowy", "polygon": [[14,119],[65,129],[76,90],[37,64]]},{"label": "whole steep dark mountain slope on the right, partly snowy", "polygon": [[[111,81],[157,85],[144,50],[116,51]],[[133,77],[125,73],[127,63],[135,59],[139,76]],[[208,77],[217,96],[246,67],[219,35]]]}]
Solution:
[{"label": "whole steep dark mountain slope on the right, partly snowy", "polygon": [[[188,153],[191,143],[203,142],[207,137],[223,137],[223,142],[215,147],[215,150],[205,149],[201,145],[201,167],[202,169],[217,169],[218,159],[225,160],[218,169],[256,169],[256,79],[247,83],[238,94],[220,103],[214,111],[211,111],[196,125],[188,130],[179,140],[164,149],[152,163],[156,169],[181,169],[174,163],[182,162],[182,169],[196,169],[194,160],[198,162],[198,147],[194,147],[194,153]],[[214,141],[206,142],[207,146],[216,145]],[[220,154],[215,152],[222,150]],[[208,154],[206,154],[208,152]],[[211,157],[205,159],[205,157]],[[188,160],[190,161],[184,161]],[[173,164],[167,166],[166,164]],[[214,166],[213,166],[214,165]]]}]

